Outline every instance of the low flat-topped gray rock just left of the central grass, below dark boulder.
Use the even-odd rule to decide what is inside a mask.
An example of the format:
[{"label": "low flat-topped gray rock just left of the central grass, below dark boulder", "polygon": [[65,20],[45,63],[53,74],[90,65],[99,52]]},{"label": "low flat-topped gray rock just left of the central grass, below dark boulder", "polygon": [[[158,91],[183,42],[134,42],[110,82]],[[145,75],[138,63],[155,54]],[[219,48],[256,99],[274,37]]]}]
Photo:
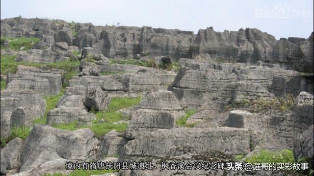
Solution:
[{"label": "low flat-topped gray rock just left of the central grass, below dark boulder", "polygon": [[89,113],[86,110],[75,107],[64,107],[50,110],[47,113],[47,124],[60,124],[60,123],[71,123],[78,121],[80,124],[90,124],[96,119],[95,114]]}]

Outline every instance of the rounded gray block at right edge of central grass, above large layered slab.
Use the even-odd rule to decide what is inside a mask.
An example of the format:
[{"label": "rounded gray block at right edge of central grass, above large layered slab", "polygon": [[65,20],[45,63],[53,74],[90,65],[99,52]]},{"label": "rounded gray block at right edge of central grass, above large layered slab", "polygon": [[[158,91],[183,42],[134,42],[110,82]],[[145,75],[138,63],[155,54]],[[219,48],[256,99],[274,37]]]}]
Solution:
[{"label": "rounded gray block at right edge of central grass, above large layered slab", "polygon": [[127,138],[136,138],[146,132],[157,129],[172,129],[175,118],[164,110],[139,109],[132,114],[130,124],[125,132]]}]

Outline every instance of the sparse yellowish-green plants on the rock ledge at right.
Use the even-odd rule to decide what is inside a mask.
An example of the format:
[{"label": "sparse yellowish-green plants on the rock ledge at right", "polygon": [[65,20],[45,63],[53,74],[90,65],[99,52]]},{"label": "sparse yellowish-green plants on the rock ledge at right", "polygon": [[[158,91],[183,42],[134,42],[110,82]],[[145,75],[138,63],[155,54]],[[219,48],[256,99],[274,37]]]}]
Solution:
[{"label": "sparse yellowish-green plants on the rock ledge at right", "polygon": [[227,110],[234,108],[247,108],[250,112],[259,112],[262,110],[293,110],[295,98],[288,94],[283,98],[273,97],[269,99],[260,98],[258,100],[243,99],[238,102],[233,102],[226,106]]}]

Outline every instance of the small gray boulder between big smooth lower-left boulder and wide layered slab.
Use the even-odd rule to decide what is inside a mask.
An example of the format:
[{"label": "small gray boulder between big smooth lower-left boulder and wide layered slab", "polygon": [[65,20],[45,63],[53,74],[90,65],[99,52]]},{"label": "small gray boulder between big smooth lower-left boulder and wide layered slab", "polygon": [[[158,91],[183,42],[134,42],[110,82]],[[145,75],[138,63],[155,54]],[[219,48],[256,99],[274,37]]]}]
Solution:
[{"label": "small gray boulder between big smooth lower-left boulder and wide layered slab", "polygon": [[128,139],[121,137],[122,132],[112,130],[104,135],[102,143],[98,151],[98,159],[104,159],[108,156],[120,154],[123,146],[128,142]]}]

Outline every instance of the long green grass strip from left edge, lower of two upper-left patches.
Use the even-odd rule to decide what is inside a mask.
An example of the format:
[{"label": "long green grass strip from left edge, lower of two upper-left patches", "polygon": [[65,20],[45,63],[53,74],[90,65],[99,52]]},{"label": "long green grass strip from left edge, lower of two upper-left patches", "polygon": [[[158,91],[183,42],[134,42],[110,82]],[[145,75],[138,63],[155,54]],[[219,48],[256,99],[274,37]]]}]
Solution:
[{"label": "long green grass strip from left edge, lower of two upper-left patches", "polygon": [[64,83],[62,84],[63,88],[68,86],[68,81],[77,73],[75,71],[78,66],[79,62],[57,62],[57,63],[26,63],[26,62],[16,62],[14,59],[16,56],[8,56],[8,55],[1,55],[1,74],[8,74],[8,73],[15,73],[16,68],[19,65],[23,66],[33,66],[37,68],[41,68],[44,70],[48,69],[62,69],[65,70],[66,72],[62,75],[62,78],[64,80]]}]

